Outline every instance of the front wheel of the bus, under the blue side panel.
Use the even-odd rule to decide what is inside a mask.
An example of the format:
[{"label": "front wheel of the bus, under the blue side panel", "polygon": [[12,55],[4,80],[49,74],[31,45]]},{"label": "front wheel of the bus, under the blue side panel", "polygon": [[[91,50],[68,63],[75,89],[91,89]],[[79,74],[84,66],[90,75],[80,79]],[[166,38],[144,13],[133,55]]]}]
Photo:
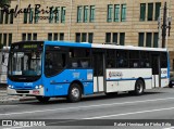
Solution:
[{"label": "front wheel of the bus, under the blue side panel", "polygon": [[82,88],[78,83],[72,83],[69,89],[67,100],[71,103],[80,101],[82,99]]}]

